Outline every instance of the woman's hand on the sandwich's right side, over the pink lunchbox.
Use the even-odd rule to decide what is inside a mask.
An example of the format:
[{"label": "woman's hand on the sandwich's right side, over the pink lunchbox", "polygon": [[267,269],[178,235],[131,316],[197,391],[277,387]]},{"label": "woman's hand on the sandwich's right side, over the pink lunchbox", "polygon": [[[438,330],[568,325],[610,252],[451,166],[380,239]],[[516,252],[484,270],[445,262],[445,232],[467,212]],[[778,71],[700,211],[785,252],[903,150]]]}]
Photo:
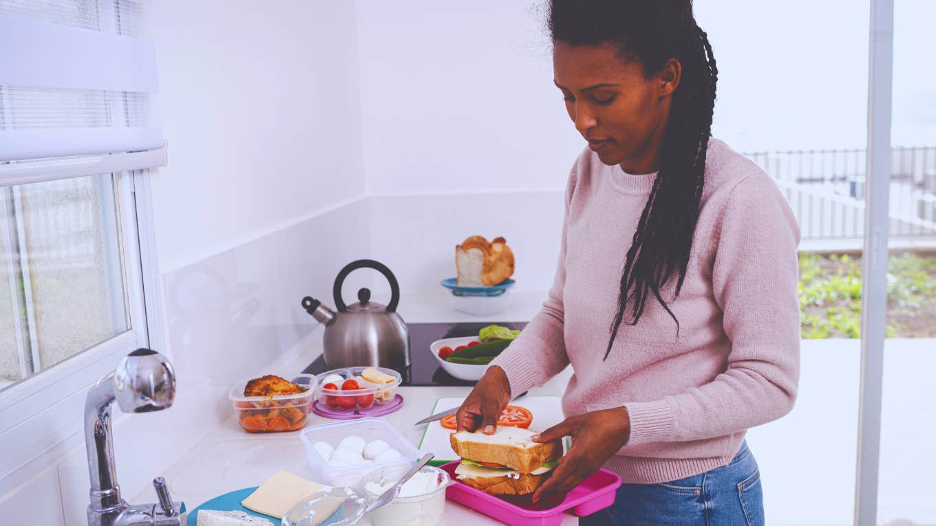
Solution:
[{"label": "woman's hand on the sandwich's right side, over the pink lunchbox", "polygon": [[572,437],[572,446],[559,460],[559,466],[533,494],[533,502],[549,492],[567,493],[582,480],[601,469],[627,443],[631,423],[625,407],[592,411],[566,418],[562,423],[534,435],[534,442],[550,442]]}]

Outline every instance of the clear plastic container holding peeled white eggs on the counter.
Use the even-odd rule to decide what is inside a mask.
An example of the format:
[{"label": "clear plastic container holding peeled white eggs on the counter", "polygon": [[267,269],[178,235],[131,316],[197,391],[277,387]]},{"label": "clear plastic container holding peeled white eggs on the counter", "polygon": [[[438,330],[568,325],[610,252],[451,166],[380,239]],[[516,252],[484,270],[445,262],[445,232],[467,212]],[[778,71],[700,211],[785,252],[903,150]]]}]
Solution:
[{"label": "clear plastic container holding peeled white eggs on the counter", "polygon": [[[357,435],[370,443],[373,440],[383,440],[388,446],[400,452],[400,458],[384,462],[369,462],[347,467],[338,467],[329,464],[322,458],[313,446],[316,442],[327,442],[336,447],[346,436]],[[305,456],[312,469],[313,480],[331,486],[347,486],[361,488],[360,482],[364,476],[387,467],[402,467],[403,472],[413,467],[419,456],[416,446],[413,446],[393,426],[383,418],[358,418],[334,424],[313,426],[300,432],[302,445],[305,446]],[[402,474],[401,474],[402,475]]]}]

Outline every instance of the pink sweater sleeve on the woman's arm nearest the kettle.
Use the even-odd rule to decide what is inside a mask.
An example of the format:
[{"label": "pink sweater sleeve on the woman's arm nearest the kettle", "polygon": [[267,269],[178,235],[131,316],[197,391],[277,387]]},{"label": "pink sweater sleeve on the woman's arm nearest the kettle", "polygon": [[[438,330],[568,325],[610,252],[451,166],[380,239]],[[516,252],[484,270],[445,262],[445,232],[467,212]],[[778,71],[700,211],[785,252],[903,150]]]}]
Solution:
[{"label": "pink sweater sleeve on the woman's arm nearest the kettle", "polygon": [[581,164],[578,159],[569,175],[565,188],[565,213],[563,238],[560,243],[559,264],[556,277],[549,288],[542,309],[536,313],[517,340],[510,343],[503,353],[490,363],[497,365],[510,382],[510,398],[516,398],[530,387],[545,384],[549,378],[562,373],[569,364],[565,354],[565,311],[563,288],[565,287],[566,232],[569,206],[575,192],[577,172]]}]

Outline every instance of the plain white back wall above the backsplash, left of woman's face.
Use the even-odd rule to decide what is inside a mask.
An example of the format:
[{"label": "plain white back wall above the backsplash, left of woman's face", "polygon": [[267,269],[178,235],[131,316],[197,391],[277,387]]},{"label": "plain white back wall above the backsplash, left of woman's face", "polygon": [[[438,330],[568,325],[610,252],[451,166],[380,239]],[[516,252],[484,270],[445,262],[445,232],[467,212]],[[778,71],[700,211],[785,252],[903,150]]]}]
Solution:
[{"label": "plain white back wall above the backsplash, left of woman's face", "polygon": [[584,144],[534,2],[355,4],[369,193],[563,188]]}]

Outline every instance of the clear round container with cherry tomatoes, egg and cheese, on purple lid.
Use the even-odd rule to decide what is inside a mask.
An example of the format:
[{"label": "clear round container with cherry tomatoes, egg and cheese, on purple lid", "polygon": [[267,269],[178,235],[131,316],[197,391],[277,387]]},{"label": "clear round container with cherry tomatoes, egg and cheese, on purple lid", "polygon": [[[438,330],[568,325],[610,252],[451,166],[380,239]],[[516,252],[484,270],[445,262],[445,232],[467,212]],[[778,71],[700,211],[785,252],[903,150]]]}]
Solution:
[{"label": "clear round container with cherry tomatoes, egg and cheese, on purple lid", "polygon": [[[375,384],[364,380],[360,373],[365,369],[376,369],[381,373],[389,374],[393,381],[388,384]],[[337,389],[326,389],[325,379],[337,374],[344,380],[357,380],[359,389],[342,389],[338,382],[335,385]],[[374,405],[383,405],[393,400],[397,394],[397,387],[400,387],[402,376],[392,369],[383,367],[345,367],[344,369],[332,369],[325,373],[315,376],[315,400],[325,404],[332,411],[347,413],[356,413],[360,409],[370,409]]]}]

